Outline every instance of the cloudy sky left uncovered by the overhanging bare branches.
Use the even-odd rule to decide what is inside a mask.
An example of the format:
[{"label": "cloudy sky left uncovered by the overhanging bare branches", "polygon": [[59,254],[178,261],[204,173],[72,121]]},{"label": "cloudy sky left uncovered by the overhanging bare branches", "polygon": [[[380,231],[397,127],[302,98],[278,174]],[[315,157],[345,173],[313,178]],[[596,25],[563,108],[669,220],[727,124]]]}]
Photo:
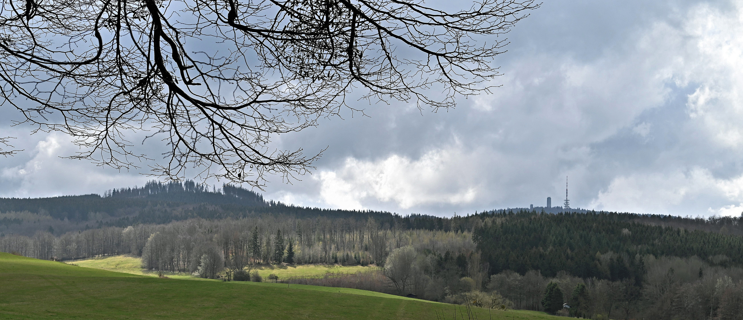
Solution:
[{"label": "cloudy sky left uncovered by the overhanging bare branches", "polygon": [[[369,105],[276,139],[318,169],[267,198],[302,206],[452,215],[562,203],[671,215],[743,212],[741,1],[548,1],[519,22],[493,94],[450,111]],[[10,127],[0,197],[102,193],[139,172],[65,160],[60,134]]]}]

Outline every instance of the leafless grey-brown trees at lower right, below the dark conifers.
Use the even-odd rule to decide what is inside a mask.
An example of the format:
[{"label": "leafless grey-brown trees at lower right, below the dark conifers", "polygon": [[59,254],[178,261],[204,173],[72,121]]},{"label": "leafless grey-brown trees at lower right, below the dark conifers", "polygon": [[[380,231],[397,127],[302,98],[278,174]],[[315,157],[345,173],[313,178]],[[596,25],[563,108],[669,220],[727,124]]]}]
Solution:
[{"label": "leafless grey-brown trees at lower right, below the dark conifers", "polygon": [[[604,259],[617,257],[608,252]],[[585,319],[733,320],[743,310],[743,269],[711,266],[698,257],[637,256],[646,272],[639,283],[580,278],[538,270],[490,275],[487,291],[497,292],[516,308],[544,310]],[[563,304],[570,307],[563,308]]]}]

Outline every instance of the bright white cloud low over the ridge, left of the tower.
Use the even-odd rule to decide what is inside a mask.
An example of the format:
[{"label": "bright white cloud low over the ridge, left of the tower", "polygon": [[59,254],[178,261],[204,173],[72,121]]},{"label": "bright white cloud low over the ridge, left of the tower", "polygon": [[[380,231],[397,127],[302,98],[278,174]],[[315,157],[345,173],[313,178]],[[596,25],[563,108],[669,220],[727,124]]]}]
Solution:
[{"label": "bright white cloud low over the ridge, left of the tower", "polygon": [[[467,164],[469,163],[470,166]],[[478,195],[478,171],[461,148],[429,151],[412,160],[392,154],[380,160],[348,158],[343,167],[320,172],[320,196],[342,209],[368,209],[365,200],[395,203],[402,209],[432,203],[470,203]]]}]

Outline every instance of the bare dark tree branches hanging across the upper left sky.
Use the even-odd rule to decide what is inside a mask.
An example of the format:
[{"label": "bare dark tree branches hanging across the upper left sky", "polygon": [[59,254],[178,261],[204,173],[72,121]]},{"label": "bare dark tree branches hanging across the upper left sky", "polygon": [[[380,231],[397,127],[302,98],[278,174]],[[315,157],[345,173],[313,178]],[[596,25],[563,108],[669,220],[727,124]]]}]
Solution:
[{"label": "bare dark tree branches hanging across the upper left sky", "polygon": [[[538,7],[476,0],[10,0],[0,12],[4,102],[36,130],[70,134],[73,157],[137,166],[132,131],[164,140],[155,174],[200,168],[262,186],[316,155],[270,148],[347,99],[450,108],[491,88],[498,38]],[[398,56],[399,55],[399,56]],[[430,90],[430,91],[429,91]],[[349,96],[353,91],[353,96]],[[426,94],[426,91],[437,94]],[[25,99],[30,101],[24,101]],[[314,154],[314,153],[313,153]]]}]

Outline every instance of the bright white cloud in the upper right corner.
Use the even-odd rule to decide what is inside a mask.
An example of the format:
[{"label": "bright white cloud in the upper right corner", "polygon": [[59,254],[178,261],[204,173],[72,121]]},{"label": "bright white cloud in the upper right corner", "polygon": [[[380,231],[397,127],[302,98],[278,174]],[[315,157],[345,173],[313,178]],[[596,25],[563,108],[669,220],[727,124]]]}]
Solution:
[{"label": "bright white cloud in the upper right corner", "polygon": [[708,4],[692,8],[677,30],[686,39],[678,46],[683,64],[679,77],[697,88],[687,100],[692,119],[707,130],[713,142],[729,148],[743,145],[743,4],[722,11]]}]

